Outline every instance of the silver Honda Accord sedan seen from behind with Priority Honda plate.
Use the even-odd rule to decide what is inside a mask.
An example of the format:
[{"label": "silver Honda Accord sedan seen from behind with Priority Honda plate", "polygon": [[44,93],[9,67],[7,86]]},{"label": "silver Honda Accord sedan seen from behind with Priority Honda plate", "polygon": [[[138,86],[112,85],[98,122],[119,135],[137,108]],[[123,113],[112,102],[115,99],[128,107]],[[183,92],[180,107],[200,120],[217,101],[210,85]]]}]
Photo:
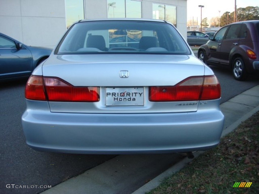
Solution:
[{"label": "silver Honda Accord sedan seen from behind with Priority Honda plate", "polygon": [[39,151],[128,154],[217,146],[220,84],[170,23],[81,20],[28,79],[22,125]]}]

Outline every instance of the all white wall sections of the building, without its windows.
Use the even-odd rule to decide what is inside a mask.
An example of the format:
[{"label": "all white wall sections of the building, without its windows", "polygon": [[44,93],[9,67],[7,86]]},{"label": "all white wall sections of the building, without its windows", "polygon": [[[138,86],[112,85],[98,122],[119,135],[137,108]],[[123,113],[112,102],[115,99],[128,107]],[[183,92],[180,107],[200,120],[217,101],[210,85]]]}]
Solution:
[{"label": "all white wall sections of the building, without its windows", "polygon": [[[54,48],[66,32],[65,0],[0,0],[0,32],[31,46]],[[187,0],[142,0],[142,18],[152,3],[177,6],[177,29],[187,38]],[[85,0],[85,18],[107,18],[107,0]]]}]

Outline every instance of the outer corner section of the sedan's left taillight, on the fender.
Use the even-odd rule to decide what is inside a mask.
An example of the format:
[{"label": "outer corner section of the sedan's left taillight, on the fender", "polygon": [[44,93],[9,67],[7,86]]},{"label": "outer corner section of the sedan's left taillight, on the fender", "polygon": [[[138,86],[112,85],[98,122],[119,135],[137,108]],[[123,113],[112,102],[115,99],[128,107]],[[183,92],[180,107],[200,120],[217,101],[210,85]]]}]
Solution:
[{"label": "outer corner section of the sedan's left taillight, on the fender", "polygon": [[42,76],[31,76],[25,87],[25,98],[29,100],[46,100]]}]

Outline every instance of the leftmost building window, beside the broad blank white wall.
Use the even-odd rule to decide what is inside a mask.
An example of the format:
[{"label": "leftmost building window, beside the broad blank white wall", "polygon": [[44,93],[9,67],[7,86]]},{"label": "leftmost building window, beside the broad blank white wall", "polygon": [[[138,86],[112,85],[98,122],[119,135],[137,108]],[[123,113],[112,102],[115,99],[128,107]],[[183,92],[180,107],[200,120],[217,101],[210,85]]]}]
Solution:
[{"label": "leftmost building window, beside the broad blank white wall", "polygon": [[84,19],[84,0],[66,0],[67,28],[82,19]]}]

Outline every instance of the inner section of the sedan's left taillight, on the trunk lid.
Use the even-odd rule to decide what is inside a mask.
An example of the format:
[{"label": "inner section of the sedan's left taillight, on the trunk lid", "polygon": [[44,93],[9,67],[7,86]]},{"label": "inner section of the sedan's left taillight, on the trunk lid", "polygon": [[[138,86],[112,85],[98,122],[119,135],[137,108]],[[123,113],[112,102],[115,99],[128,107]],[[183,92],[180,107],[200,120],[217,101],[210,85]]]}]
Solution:
[{"label": "inner section of the sedan's left taillight, on the trunk lid", "polygon": [[99,87],[75,87],[60,78],[44,77],[48,101],[98,102]]}]

